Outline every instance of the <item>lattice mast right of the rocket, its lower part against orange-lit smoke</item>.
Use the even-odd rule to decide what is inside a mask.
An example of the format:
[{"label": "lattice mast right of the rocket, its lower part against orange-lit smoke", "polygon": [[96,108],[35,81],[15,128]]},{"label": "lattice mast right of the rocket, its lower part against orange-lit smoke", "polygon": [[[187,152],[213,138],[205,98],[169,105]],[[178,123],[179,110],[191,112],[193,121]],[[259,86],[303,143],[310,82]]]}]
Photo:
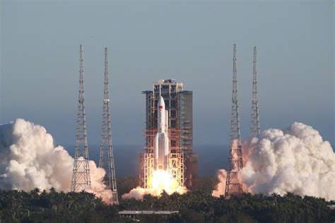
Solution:
[{"label": "lattice mast right of the rocket, its lower part against orange-lit smoke", "polygon": [[242,169],[242,146],[240,134],[240,116],[237,100],[237,68],[236,68],[236,44],[233,49],[233,97],[232,115],[230,122],[230,147],[227,179],[225,181],[225,198],[231,195],[241,194],[242,185],[238,182],[237,173]]}]

